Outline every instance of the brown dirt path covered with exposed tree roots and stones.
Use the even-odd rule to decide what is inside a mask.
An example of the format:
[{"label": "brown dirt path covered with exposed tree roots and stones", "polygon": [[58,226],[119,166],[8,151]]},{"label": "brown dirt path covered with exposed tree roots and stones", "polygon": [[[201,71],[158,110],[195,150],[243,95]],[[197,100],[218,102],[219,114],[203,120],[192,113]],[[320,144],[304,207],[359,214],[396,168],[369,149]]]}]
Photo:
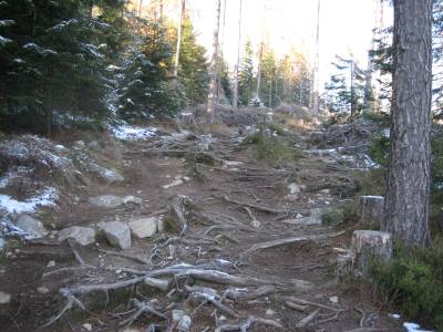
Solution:
[{"label": "brown dirt path covered with exposed tree roots and stones", "polygon": [[[125,250],[104,239],[74,249],[51,239],[19,242],[0,266],[1,290],[13,294],[0,330],[35,331],[70,303],[40,331],[173,331],[186,325],[173,320],[173,310],[190,318],[190,331],[403,331],[370,283],[337,277],[337,258],[350,246],[353,226],[315,220],[316,208],[354,199],[347,194],[350,168],[309,153],[309,131],[285,135],[298,152],[290,163],[258,157],[257,146],[243,143],[236,127],[215,126],[212,136],[173,144],[159,134],[123,142],[125,180],[91,185],[78,203],[48,214],[45,224],[62,229],[163,216],[165,231],[133,237]],[[143,201],[116,208],[89,203],[100,195]],[[169,219],[188,228],[182,231],[184,225]],[[308,239],[268,242],[293,237]],[[167,289],[147,287],[144,276],[168,280]],[[97,284],[106,291],[75,290]],[[69,293],[62,297],[60,289]]]}]

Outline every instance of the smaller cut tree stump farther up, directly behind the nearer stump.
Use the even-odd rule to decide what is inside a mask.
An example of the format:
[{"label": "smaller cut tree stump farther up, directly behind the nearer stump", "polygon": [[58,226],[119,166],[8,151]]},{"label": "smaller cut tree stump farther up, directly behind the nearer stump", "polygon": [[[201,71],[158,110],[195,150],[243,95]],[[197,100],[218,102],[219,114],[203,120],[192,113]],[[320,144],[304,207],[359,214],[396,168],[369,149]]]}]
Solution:
[{"label": "smaller cut tree stump farther up, directly behind the nearer stump", "polygon": [[357,214],[361,225],[369,228],[380,228],[383,220],[383,196],[360,196]]}]

